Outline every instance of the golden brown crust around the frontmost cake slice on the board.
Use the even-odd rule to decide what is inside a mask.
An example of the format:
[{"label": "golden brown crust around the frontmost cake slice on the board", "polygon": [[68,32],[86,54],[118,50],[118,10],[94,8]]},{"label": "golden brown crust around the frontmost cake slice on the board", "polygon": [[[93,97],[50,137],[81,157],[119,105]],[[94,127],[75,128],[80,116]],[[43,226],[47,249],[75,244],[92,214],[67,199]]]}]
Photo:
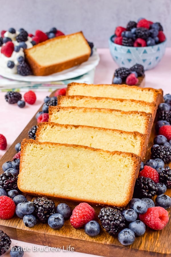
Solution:
[{"label": "golden brown crust around the frontmost cake slice on the board", "polygon": [[[130,186],[128,188],[128,191],[127,191],[127,197],[120,203],[118,202],[97,202],[96,200],[89,200],[86,198],[84,199],[80,199],[79,196],[78,198],[70,198],[70,197],[63,197],[63,196],[60,196],[60,195],[55,195],[55,194],[47,194],[47,193],[42,193],[40,191],[36,191],[33,192],[33,191],[28,191],[28,190],[25,190],[25,186],[22,184],[21,180],[22,180],[22,173],[23,173],[23,167],[24,167],[24,158],[25,158],[25,152],[27,151],[27,145],[28,144],[32,144],[32,145],[39,145],[39,146],[42,146],[42,150],[43,150],[43,146],[48,146],[50,147],[51,146],[65,146],[65,147],[68,147],[67,149],[71,150],[72,152],[72,149],[73,148],[85,148],[85,149],[88,149],[89,151],[94,151],[94,152],[101,152],[101,153],[104,153],[104,154],[107,154],[107,155],[121,155],[123,156],[124,158],[126,156],[129,156],[131,158],[133,158],[134,160],[134,165],[132,167],[132,175],[131,175],[131,180],[130,180]],[[57,149],[57,148],[56,148]],[[50,156],[49,156],[49,162],[50,162]],[[85,164],[86,165],[86,164]],[[26,138],[23,139],[23,141],[21,142],[21,158],[20,158],[20,173],[19,173],[19,176],[18,176],[18,182],[17,182],[17,185],[18,185],[18,188],[22,191],[22,192],[25,192],[27,194],[31,194],[31,195],[45,195],[45,196],[50,196],[50,197],[56,197],[56,198],[62,198],[62,199],[65,199],[65,200],[72,200],[72,201],[76,201],[76,202],[82,202],[82,201],[85,201],[89,204],[98,204],[98,205],[109,205],[109,206],[118,206],[118,207],[125,207],[129,201],[132,199],[132,196],[133,196],[133,191],[134,191],[134,186],[135,186],[135,181],[136,181],[136,178],[138,176],[138,173],[139,173],[139,168],[140,168],[140,165],[141,165],[141,157],[136,155],[136,154],[133,154],[133,153],[128,153],[128,152],[119,152],[119,151],[114,151],[114,152],[109,152],[107,150],[101,150],[101,149],[97,149],[97,148],[92,148],[92,147],[88,147],[88,146],[81,146],[81,145],[74,145],[74,144],[60,144],[60,143],[52,143],[52,142],[38,142],[38,141],[35,141],[33,139],[29,139],[27,140]],[[32,172],[32,170],[31,170]],[[36,172],[36,167],[35,167],[35,174]],[[47,182],[47,181],[46,181]],[[27,181],[25,181],[25,183],[27,184]],[[40,181],[40,183],[42,183],[42,181]]]}]

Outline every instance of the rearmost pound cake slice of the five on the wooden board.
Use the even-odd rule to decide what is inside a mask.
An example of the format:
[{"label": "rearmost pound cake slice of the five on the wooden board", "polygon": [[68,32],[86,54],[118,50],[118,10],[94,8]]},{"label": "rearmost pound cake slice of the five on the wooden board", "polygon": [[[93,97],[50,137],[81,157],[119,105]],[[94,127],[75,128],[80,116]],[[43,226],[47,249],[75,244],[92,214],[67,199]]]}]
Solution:
[{"label": "rearmost pound cake slice of the five on the wooden board", "polygon": [[73,82],[68,84],[66,95],[143,100],[150,103],[155,102],[157,106],[163,102],[162,89],[141,88],[128,85],[89,85]]}]

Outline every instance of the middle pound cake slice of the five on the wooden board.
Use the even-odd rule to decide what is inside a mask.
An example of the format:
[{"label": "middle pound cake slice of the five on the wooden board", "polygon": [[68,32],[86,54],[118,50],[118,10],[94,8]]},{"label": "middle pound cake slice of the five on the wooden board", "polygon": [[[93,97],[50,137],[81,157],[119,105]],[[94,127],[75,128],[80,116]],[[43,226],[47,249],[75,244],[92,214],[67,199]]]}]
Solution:
[{"label": "middle pound cake slice of the five on the wooden board", "polygon": [[142,134],[150,134],[152,128],[151,114],[145,112],[58,105],[49,106],[49,122],[137,131]]}]

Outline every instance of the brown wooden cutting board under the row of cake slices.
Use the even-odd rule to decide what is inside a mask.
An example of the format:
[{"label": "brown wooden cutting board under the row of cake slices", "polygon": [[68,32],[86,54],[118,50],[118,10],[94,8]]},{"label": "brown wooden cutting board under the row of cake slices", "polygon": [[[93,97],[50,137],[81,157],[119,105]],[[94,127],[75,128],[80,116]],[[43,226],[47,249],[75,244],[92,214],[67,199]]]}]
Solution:
[{"label": "brown wooden cutting board under the row of cake slices", "polygon": [[[53,93],[51,94],[53,96]],[[42,110],[42,107],[39,111]],[[23,138],[28,138],[28,130],[36,125],[35,115],[25,127],[23,132],[18,136],[18,138],[11,145],[9,150],[0,160],[0,167],[6,161],[12,160],[13,156],[16,154],[15,144],[21,142]],[[150,136],[150,142],[148,151],[146,154],[146,159],[150,158],[150,147],[152,145],[154,138],[154,129]],[[167,164],[168,165],[168,164]],[[3,173],[1,168],[0,173]],[[167,189],[167,195],[171,196],[171,189]],[[25,195],[28,200],[32,200],[33,197]],[[57,205],[61,201],[53,199]],[[66,202],[71,209],[77,205],[74,202]],[[98,216],[100,207],[93,206],[95,212]],[[171,210],[168,209],[170,216]],[[76,252],[83,252],[87,254],[95,254],[105,257],[147,257],[147,256],[171,256],[170,248],[170,229],[171,229],[171,219],[169,223],[163,230],[151,230],[146,229],[143,236],[136,237],[134,243],[130,246],[123,246],[119,243],[117,236],[110,236],[107,232],[101,228],[101,232],[98,236],[89,237],[85,234],[84,229],[75,229],[70,225],[70,221],[66,220],[64,226],[60,230],[52,230],[47,224],[42,224],[37,222],[33,228],[28,228],[24,226],[23,220],[18,218],[16,215],[9,219],[0,219],[0,229],[7,233],[10,238],[25,242],[30,242],[33,244],[40,244],[50,247],[61,247],[64,250],[72,250]]]}]

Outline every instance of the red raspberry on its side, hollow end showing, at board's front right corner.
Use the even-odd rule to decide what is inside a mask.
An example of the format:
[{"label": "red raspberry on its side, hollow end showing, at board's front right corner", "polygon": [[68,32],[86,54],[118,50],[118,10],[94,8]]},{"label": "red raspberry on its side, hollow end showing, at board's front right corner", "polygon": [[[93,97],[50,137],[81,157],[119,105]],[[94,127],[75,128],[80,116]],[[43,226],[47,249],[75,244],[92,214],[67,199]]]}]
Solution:
[{"label": "red raspberry on its side, hollow end showing, at board's front right corner", "polygon": [[168,212],[163,207],[150,207],[144,214],[139,214],[139,219],[154,230],[163,229],[169,221]]}]

